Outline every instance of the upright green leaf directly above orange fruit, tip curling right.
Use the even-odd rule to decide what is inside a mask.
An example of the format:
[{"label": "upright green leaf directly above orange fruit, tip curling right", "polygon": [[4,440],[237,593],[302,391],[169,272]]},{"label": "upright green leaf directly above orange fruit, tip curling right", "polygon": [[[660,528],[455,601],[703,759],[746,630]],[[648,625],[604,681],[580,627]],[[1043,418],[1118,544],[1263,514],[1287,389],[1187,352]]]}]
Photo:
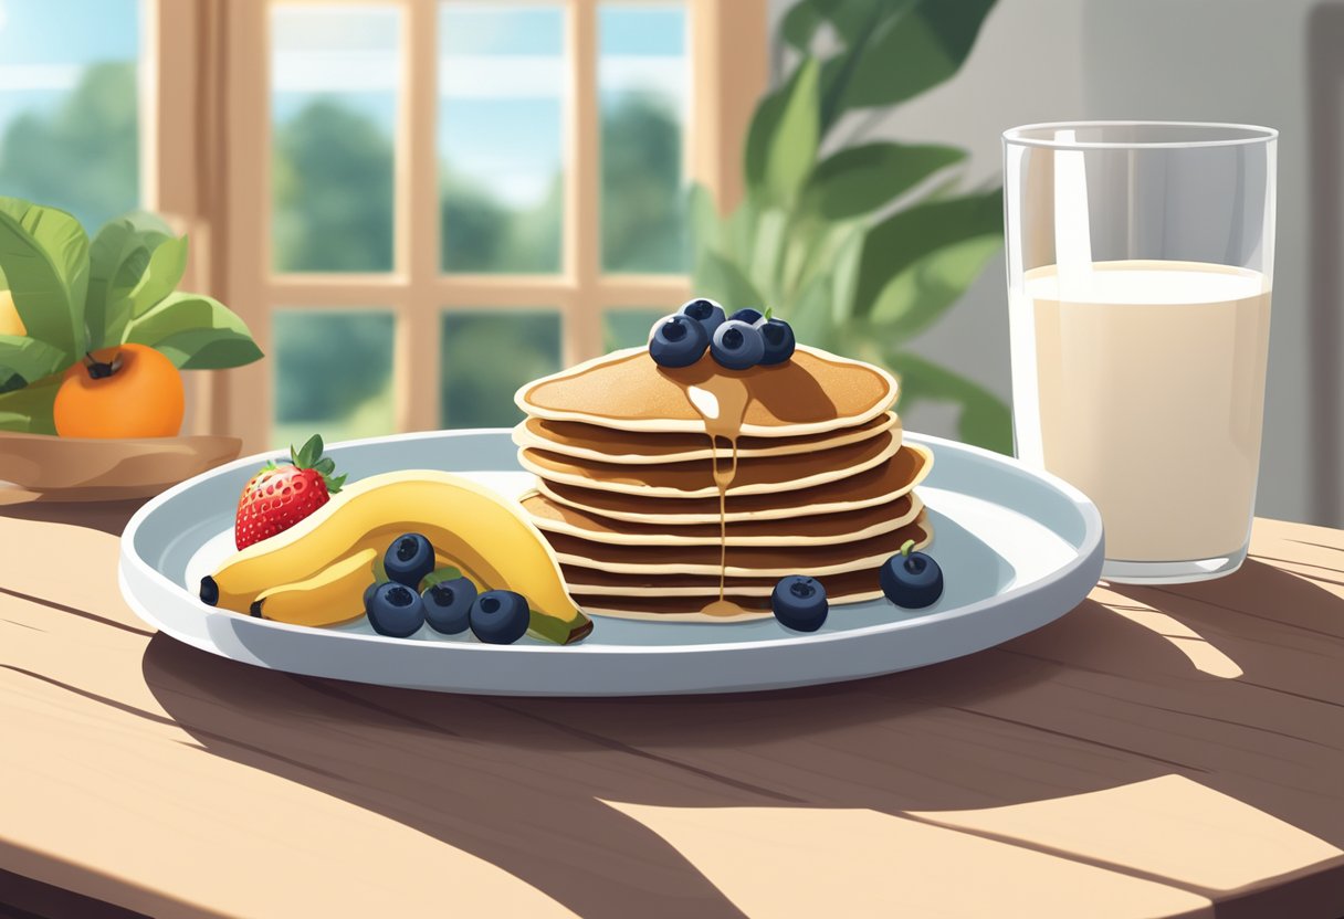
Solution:
[{"label": "upright green leaf directly above orange fruit, tip curling right", "polygon": [[149,267],[149,253],[172,239],[153,214],[133,211],[109,220],[89,247],[89,294],[85,325],[91,349],[121,341],[130,308],[126,301]]}]

